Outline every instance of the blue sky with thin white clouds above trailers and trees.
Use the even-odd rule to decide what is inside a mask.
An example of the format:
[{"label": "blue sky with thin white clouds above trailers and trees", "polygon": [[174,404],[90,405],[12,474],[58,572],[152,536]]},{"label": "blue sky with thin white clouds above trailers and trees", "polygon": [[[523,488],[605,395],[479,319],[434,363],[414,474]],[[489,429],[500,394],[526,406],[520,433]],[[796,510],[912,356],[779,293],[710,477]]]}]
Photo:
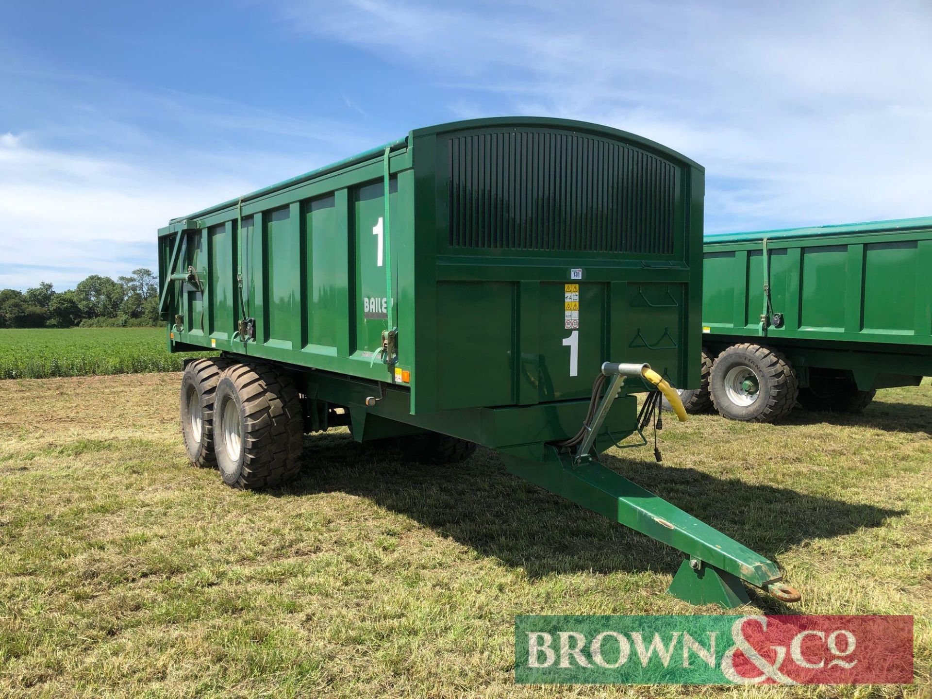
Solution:
[{"label": "blue sky with thin white clouds above trailers and trees", "polygon": [[458,118],[706,166],[706,231],[932,213],[932,2],[0,1],[0,288],[155,267],[156,229]]}]

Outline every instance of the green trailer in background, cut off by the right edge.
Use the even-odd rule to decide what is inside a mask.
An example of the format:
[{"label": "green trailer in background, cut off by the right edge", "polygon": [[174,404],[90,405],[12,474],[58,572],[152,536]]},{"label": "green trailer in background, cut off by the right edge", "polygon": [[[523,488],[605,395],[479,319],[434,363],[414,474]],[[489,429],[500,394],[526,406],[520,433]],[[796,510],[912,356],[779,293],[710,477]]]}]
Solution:
[{"label": "green trailer in background, cut off by the right edge", "polygon": [[932,218],[706,236],[703,372],[687,410],[857,412],[932,375]]}]

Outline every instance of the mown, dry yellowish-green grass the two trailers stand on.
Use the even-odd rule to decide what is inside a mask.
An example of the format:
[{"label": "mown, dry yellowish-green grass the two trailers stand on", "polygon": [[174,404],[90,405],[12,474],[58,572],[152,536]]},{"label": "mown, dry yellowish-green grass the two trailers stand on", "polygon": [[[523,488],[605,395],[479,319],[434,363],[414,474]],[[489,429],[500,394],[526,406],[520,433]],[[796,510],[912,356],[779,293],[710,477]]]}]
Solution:
[{"label": "mown, dry yellowish-green grass the two trailers stand on", "polygon": [[426,467],[308,436],[293,486],[224,487],[186,463],[179,378],[0,383],[0,696],[929,695],[928,379],[857,418],[667,420],[665,465],[610,453],[803,594],[747,610],[915,615],[914,686],[741,689],[514,686],[515,614],[722,610],[665,596],[673,550],[482,448]]}]

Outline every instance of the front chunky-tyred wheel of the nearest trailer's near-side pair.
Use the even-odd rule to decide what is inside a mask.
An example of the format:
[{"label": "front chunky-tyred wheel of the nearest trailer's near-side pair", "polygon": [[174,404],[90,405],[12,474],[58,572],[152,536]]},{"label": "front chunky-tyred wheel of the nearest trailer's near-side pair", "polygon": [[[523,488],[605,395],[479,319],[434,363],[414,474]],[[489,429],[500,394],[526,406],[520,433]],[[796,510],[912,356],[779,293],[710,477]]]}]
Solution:
[{"label": "front chunky-tyred wheel of the nearest trailer's near-side pair", "polygon": [[231,487],[259,489],[295,478],[304,416],[295,382],[270,364],[232,364],[217,385],[217,466]]}]

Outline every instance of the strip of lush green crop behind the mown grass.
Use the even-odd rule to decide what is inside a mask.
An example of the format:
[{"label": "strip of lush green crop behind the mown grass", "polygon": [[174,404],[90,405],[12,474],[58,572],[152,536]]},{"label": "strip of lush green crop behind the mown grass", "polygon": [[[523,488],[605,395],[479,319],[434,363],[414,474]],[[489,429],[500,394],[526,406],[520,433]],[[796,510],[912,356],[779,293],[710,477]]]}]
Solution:
[{"label": "strip of lush green crop behind the mown grass", "polygon": [[180,371],[165,328],[0,329],[0,378],[83,377]]}]

